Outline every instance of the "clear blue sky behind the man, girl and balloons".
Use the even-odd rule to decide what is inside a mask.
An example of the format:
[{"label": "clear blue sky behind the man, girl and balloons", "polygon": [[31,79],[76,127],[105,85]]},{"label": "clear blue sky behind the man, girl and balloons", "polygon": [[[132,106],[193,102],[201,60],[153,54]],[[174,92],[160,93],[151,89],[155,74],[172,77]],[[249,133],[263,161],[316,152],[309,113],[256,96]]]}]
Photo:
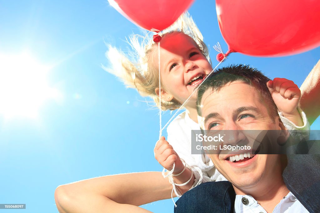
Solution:
[{"label": "clear blue sky behind the man, girl and balloons", "polygon": [[[215,66],[212,46],[220,42],[227,51],[215,4],[196,1],[189,12]],[[106,0],[0,0],[0,23],[0,75],[7,85],[0,86],[6,97],[0,107],[0,203],[26,203],[27,209],[11,212],[57,212],[58,185],[162,170],[153,154],[158,111],[101,68],[108,66],[104,42],[126,50],[125,37],[141,33],[137,26]],[[319,55],[320,48],[281,58],[232,53],[223,64],[250,64],[270,78],[285,77],[300,86]],[[46,67],[44,75],[36,64]],[[169,119],[165,113],[163,123]],[[312,129],[320,129],[319,119]],[[171,212],[173,203],[143,207]]]}]

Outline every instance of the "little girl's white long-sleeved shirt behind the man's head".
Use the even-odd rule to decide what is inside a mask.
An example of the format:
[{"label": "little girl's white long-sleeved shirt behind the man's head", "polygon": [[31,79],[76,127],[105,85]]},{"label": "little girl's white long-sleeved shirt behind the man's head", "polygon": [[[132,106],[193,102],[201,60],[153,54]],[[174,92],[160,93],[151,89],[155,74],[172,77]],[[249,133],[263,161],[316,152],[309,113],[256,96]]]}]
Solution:
[{"label": "little girl's white long-sleeved shirt behind the man's head", "polygon": [[[288,130],[310,130],[306,114],[298,108],[304,125],[302,127],[296,126],[280,113],[280,119]],[[202,183],[209,181],[223,181],[227,180],[214,167],[211,159],[205,154],[191,154],[191,132],[193,130],[200,130],[198,123],[194,122],[186,111],[179,114],[167,127],[167,141],[173,147],[174,151],[182,158],[189,166],[197,166],[201,169],[203,174]],[[195,183],[200,178],[199,172],[193,170],[195,175]],[[173,184],[174,192],[178,197],[181,196],[176,186]]]}]

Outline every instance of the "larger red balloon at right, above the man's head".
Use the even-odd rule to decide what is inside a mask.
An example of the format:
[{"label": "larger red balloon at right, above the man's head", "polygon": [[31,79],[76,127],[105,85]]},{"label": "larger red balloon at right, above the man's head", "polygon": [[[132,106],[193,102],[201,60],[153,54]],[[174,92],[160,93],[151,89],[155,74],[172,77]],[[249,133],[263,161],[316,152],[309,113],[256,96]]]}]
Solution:
[{"label": "larger red balloon at right, above the man's head", "polygon": [[216,0],[229,50],[285,56],[320,46],[319,0]]}]

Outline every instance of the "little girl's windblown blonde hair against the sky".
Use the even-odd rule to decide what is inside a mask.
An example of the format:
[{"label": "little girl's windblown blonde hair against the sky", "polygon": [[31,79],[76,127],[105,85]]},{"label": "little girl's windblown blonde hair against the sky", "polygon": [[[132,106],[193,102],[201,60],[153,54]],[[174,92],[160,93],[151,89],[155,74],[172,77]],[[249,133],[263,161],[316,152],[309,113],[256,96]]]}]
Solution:
[{"label": "little girl's windblown blonde hair against the sky", "polygon": [[[190,36],[202,54],[211,62],[208,48],[203,42],[203,36],[188,12],[182,14],[172,26],[163,30],[160,35],[163,39],[165,36],[177,32]],[[127,87],[136,88],[140,95],[150,96],[159,107],[159,97],[155,92],[155,89],[159,88],[159,68],[154,61],[157,58],[155,54],[158,53],[158,51],[154,51],[157,44],[153,41],[150,33],[146,36],[131,35],[128,43],[133,50],[128,54],[131,56],[131,60],[123,52],[108,45],[106,57],[110,61],[111,68],[104,66],[103,68],[119,77]],[[162,110],[174,110],[180,106],[181,104],[175,99],[172,101],[162,100],[161,102]]]}]

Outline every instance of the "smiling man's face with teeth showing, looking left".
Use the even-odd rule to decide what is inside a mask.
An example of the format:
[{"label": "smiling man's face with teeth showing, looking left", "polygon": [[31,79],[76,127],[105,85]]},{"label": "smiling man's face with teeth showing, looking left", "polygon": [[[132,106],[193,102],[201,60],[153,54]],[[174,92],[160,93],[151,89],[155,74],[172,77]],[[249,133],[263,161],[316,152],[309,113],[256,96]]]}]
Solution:
[{"label": "smiling man's face with teeth showing, looking left", "polygon": [[[242,81],[227,83],[219,91],[206,91],[201,105],[204,130],[238,130],[232,131],[233,134],[227,136],[228,140],[224,140],[227,145],[235,146],[248,141],[251,136],[239,130],[281,130],[279,118],[270,118],[268,105],[261,102],[260,94]],[[280,170],[279,155],[257,154],[231,162],[230,159],[247,151],[238,150],[231,154],[224,150],[218,152],[210,154],[213,164],[237,188],[254,187]]]}]

